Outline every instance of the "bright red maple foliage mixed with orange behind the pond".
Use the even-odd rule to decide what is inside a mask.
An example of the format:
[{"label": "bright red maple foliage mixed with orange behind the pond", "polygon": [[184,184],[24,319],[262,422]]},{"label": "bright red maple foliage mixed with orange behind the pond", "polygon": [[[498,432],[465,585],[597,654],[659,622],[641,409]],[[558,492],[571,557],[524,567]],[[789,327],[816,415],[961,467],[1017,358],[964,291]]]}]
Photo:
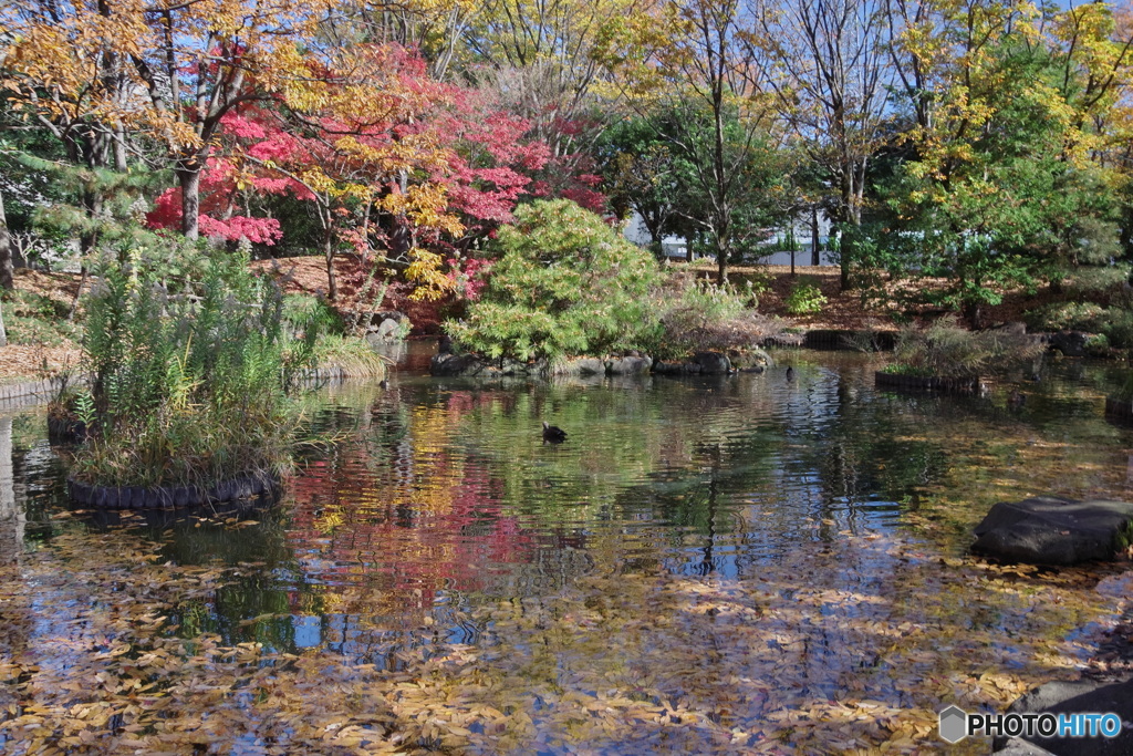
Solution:
[{"label": "bright red maple foliage mixed with orange behind the pond", "polygon": [[[337,104],[301,118],[293,118],[282,102],[249,103],[224,116],[218,156],[202,176],[203,233],[272,245],[283,229],[275,219],[255,216],[254,198],[291,194],[317,201],[329,232],[363,258],[372,249],[403,252],[407,226],[412,245],[467,255],[476,239],[491,238],[511,221],[525,196],[564,196],[605,210],[606,199],[595,189],[598,177],[581,170],[589,162],[579,155],[554,158],[545,142],[530,136],[527,120],[500,111],[478,92],[432,79],[414,51],[359,45],[352,54],[357,66],[346,74],[312,63],[312,76],[330,85],[326,101]],[[365,107],[352,108],[350,97],[359,86],[373,94]],[[559,127],[566,133],[585,125]],[[350,202],[326,181],[368,187],[372,199]],[[401,196],[402,181],[442,192],[446,207],[440,212],[459,219],[462,231],[451,221],[417,223],[408,211],[378,202]],[[174,188],[157,198],[147,220],[155,228],[178,228],[180,212]],[[475,278],[467,265],[454,267],[452,275]],[[478,294],[475,281],[463,288]]]}]

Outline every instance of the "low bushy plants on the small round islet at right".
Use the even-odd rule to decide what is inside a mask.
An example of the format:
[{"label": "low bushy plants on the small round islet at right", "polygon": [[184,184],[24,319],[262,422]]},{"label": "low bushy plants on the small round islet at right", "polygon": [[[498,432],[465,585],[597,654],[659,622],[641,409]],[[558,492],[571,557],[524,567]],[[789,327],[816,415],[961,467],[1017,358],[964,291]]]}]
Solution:
[{"label": "low bushy plants on the small round islet at right", "polygon": [[949,315],[928,326],[903,328],[887,372],[940,377],[989,375],[1033,359],[1045,348],[1034,337],[1007,330],[968,331]]}]

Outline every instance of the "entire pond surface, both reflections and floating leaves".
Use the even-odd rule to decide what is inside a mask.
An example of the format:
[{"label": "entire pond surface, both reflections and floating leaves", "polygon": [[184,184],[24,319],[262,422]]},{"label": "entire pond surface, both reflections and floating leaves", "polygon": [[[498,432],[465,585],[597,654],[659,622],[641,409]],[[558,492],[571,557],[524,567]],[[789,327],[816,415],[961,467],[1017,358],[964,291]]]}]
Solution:
[{"label": "entire pond surface, both reflections and floating leaves", "polygon": [[42,410],[0,416],[0,739],[929,753],[940,708],[1077,677],[1124,568],[966,546],[996,501],[1133,496],[1133,431],[1102,417],[1122,368],[1049,364],[1008,408],[1007,385],[876,390],[881,357],[778,357],[479,384],[417,355],[308,400],[280,501],[176,517],[74,510]]}]

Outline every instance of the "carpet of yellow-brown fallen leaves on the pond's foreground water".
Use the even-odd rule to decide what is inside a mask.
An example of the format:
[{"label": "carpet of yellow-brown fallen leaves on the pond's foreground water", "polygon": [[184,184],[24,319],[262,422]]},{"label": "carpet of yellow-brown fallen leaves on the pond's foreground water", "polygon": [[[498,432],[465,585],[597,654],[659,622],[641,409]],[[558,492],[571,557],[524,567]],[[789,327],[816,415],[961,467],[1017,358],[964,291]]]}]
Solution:
[{"label": "carpet of yellow-brown fallen leaves on the pond's foreground water", "polygon": [[[476,645],[441,643],[426,620],[416,643],[358,657],[194,630],[225,581],[257,568],[159,563],[157,550],[68,532],[0,568],[0,749],[935,753],[939,708],[1002,711],[1077,677],[1092,646],[1075,628],[1130,595],[1116,569],[1104,595],[1096,571],[845,533],[755,579],[600,568],[554,595],[483,600],[458,618]],[[826,587],[829,570],[861,576],[858,589]]]}]

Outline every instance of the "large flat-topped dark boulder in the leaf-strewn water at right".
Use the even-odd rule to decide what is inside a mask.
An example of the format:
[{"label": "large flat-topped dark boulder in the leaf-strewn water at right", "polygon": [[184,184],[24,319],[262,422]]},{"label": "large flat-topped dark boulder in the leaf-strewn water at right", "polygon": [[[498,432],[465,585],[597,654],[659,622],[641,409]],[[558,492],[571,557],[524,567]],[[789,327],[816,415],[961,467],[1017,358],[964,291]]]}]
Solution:
[{"label": "large flat-topped dark boulder in the leaf-strewn water at right", "polygon": [[976,527],[972,551],[1016,562],[1111,560],[1128,546],[1133,504],[1036,496],[999,502]]}]

